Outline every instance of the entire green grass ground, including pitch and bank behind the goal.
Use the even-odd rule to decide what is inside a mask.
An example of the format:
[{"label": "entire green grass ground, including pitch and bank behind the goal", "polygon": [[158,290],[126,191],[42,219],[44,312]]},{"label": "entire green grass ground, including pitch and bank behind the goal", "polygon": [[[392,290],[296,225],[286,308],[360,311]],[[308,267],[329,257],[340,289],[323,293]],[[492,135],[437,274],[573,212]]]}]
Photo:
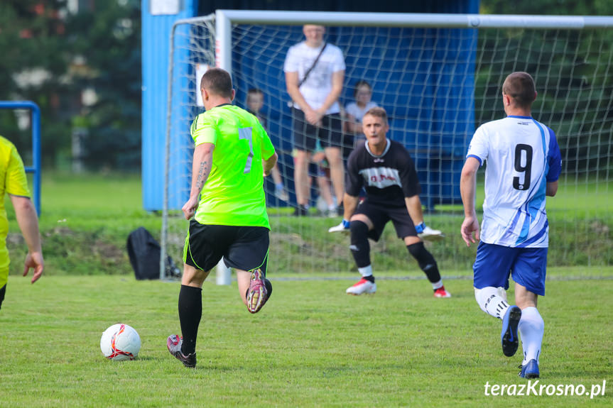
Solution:
[{"label": "entire green grass ground, including pitch and bank behind the goal", "polygon": [[[551,216],[560,228],[556,246],[562,247],[554,259],[570,266],[548,268],[547,296],[539,302],[546,322],[540,384],[583,385],[590,392],[606,380],[604,396],[593,399],[545,392],[538,397],[484,395],[487,382],[527,381],[517,377],[521,357],[506,358],[500,351],[500,322],[474,301],[466,267],[474,249],[461,247],[457,236],[450,234],[445,246],[433,249],[445,266],[451,299],[434,299],[417,268],[397,268],[406,265],[407,255],[391,231],[389,242],[374,246],[377,293],[349,297],[344,292],[356,274],[349,272],[346,243],[320,233],[330,220],[296,221],[276,213],[272,224],[287,228],[277,231],[286,235],[276,239],[291,239],[273,254],[271,301],[251,315],[235,283],[219,287],[210,279],[203,292],[198,365],[186,369],[165,343],[170,333],[180,331],[178,283],[137,282],[125,253],[130,231],[146,226],[157,235],[161,224],[158,214],[141,209],[140,188],[136,176],[43,177],[40,228],[46,270],[35,285],[18,273],[24,244],[16,222],[10,222],[13,263],[0,310],[0,407],[613,405],[613,267],[607,229],[612,217],[602,211],[613,188],[592,184],[581,199],[573,199],[576,188],[563,187],[552,200]],[[453,231],[461,223],[458,211],[443,207],[428,220]],[[578,219],[590,220],[582,224],[602,220],[597,233],[586,238],[570,229],[581,224],[580,212]],[[320,262],[318,248],[291,241],[300,233],[322,237],[324,246],[337,245],[335,268],[342,268],[290,273],[298,255],[307,258],[303,265]],[[571,250],[579,255],[563,258]],[[593,260],[598,262],[590,266]],[[99,350],[102,331],[119,321],[141,335],[135,361],[108,361]]]}]

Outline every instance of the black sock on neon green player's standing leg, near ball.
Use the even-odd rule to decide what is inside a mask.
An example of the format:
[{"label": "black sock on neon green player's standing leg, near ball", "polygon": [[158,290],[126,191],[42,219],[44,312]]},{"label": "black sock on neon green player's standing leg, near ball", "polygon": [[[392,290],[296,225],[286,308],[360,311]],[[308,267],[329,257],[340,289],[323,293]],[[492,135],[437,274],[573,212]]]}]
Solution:
[{"label": "black sock on neon green player's standing leg, near ball", "polygon": [[179,292],[179,321],[183,345],[181,353],[189,355],[196,351],[198,325],[202,317],[202,289],[181,285]]}]

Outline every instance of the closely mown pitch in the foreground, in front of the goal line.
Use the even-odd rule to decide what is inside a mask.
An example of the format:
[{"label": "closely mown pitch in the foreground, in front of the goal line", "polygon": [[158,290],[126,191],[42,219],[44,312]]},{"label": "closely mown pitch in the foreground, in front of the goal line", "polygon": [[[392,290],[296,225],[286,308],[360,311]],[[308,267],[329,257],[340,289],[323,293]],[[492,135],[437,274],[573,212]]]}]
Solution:
[{"label": "closely mown pitch in the foreground, in front of the goal line", "polygon": [[[597,275],[610,271],[592,268]],[[564,271],[562,271],[564,272]],[[553,270],[551,275],[558,275]],[[345,275],[347,276],[347,275]],[[470,280],[273,279],[271,300],[249,314],[236,283],[205,283],[195,369],[166,350],[179,333],[177,283],[132,277],[10,277],[0,311],[0,400],[13,407],[610,407],[611,280],[548,282],[544,385],[602,385],[604,396],[492,397],[486,382],[526,385],[521,349],[500,350],[500,322],[474,302]],[[577,290],[580,287],[580,290]],[[513,293],[509,293],[512,298]],[[102,331],[118,321],[141,336],[134,361],[105,360]]]}]

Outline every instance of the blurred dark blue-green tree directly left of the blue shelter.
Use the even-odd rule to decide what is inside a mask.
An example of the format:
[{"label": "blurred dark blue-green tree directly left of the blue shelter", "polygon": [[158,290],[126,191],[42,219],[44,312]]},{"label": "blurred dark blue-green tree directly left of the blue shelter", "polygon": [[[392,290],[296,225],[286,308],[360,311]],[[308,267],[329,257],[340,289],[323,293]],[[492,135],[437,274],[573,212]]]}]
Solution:
[{"label": "blurred dark blue-green tree directly left of the blue shelter", "polygon": [[67,24],[75,55],[87,60],[89,74],[75,86],[97,92],[96,104],[85,108],[89,168],[138,169],[141,146],[141,23],[138,1],[109,1],[79,13]]}]

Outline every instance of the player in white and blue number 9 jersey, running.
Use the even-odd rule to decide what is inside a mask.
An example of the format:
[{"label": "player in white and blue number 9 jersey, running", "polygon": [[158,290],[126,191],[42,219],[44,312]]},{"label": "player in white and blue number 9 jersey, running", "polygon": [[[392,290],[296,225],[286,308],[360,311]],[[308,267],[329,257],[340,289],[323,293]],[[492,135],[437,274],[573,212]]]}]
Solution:
[{"label": "player in white and blue number 9 jersey, running", "polygon": [[[479,126],[470,142],[460,178],[465,219],[462,239],[479,240],[474,209],[477,170],[485,169],[481,242],[474,261],[474,297],[487,314],[502,320],[501,344],[511,357],[524,348],[520,377],[537,378],[545,325],[536,309],[545,294],[549,224],[546,196],[558,191],[562,156],[555,133],[534,120],[534,80],[513,72],[502,85],[506,118]],[[474,236],[473,236],[474,233]],[[515,281],[515,302],[509,305],[509,275]]]}]

